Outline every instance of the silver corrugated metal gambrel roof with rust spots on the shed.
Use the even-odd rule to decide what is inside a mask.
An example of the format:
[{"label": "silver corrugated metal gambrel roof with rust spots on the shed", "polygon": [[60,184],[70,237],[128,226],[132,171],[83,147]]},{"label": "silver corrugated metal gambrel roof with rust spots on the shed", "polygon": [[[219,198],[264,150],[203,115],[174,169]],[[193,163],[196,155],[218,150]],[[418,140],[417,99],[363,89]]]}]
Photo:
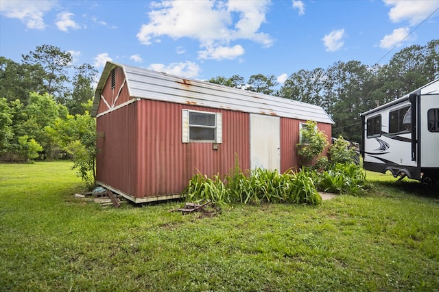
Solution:
[{"label": "silver corrugated metal gambrel roof with rust spots on the shed", "polygon": [[92,115],[97,115],[100,92],[112,68],[120,66],[125,72],[131,98],[145,98],[217,109],[244,111],[300,120],[315,120],[333,124],[332,118],[322,107],[270,96],[224,85],[186,79],[163,72],[107,62],[95,91]]}]

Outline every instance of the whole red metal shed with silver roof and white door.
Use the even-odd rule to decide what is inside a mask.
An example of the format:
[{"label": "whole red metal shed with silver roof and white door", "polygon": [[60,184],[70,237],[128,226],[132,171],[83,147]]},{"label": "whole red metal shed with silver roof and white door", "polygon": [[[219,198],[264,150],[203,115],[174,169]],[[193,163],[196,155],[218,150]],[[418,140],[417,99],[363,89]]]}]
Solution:
[{"label": "whole red metal shed with silver roof and white door", "polygon": [[[322,107],[107,62],[97,84],[97,183],[133,202],[178,198],[193,174],[298,165],[300,124]],[[330,141],[329,141],[330,142]]]}]

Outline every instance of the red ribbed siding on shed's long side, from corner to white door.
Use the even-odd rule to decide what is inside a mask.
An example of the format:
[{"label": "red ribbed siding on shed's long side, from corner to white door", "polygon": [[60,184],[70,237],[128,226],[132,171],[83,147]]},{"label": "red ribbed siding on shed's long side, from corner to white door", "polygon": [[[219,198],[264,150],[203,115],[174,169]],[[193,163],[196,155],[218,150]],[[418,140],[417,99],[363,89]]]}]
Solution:
[{"label": "red ribbed siding on shed's long side, from corner to white door", "polygon": [[[226,174],[235,165],[250,165],[248,114],[192,105],[141,100],[137,105],[136,198],[178,194],[189,179],[202,174]],[[182,109],[222,113],[222,144],[182,143]]]}]

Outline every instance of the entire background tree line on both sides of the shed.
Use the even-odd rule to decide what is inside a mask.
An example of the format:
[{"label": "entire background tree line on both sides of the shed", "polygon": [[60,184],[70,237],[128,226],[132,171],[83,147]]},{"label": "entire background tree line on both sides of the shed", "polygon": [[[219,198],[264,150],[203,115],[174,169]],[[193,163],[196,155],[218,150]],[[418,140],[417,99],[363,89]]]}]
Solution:
[{"label": "entire background tree line on both sides of the shed", "polygon": [[[47,44],[22,55],[20,63],[0,56],[0,160],[56,159],[73,151],[83,159],[95,155],[95,119],[89,111],[97,70],[72,61],[71,53]],[[320,105],[335,121],[334,137],[359,142],[361,112],[438,78],[439,40],[431,40],[402,49],[384,65],[353,60],[298,70],[280,88],[274,75],[208,81]]]}]

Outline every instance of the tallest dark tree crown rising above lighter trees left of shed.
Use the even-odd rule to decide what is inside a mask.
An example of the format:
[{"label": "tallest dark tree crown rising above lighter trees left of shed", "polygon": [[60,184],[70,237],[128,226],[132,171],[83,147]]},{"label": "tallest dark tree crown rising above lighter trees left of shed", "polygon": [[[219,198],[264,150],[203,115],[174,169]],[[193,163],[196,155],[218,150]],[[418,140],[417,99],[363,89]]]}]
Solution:
[{"label": "tallest dark tree crown rising above lighter trees left of shed", "polygon": [[22,57],[23,64],[38,65],[43,68],[44,87],[38,92],[51,94],[56,96],[59,102],[63,102],[69,82],[67,69],[71,67],[73,61],[71,53],[61,51],[55,46],[43,44],[43,46],[37,46],[35,51],[30,51],[29,54],[22,55]]}]

